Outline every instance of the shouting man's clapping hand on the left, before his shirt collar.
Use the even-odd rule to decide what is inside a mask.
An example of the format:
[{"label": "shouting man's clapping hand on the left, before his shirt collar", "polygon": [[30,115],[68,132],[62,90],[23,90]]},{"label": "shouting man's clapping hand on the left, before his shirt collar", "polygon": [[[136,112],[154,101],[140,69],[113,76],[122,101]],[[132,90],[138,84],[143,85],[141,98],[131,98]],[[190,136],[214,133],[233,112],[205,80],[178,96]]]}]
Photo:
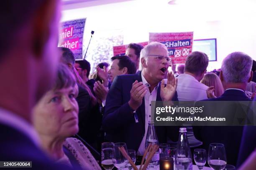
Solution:
[{"label": "shouting man's clapping hand on the left, before his shirt collar", "polygon": [[133,110],[137,110],[138,107],[140,107],[140,105],[142,104],[142,99],[146,95],[147,90],[148,87],[146,87],[146,85],[143,85],[142,82],[138,82],[138,80],[133,82],[133,86],[130,91],[131,99],[128,102]]}]

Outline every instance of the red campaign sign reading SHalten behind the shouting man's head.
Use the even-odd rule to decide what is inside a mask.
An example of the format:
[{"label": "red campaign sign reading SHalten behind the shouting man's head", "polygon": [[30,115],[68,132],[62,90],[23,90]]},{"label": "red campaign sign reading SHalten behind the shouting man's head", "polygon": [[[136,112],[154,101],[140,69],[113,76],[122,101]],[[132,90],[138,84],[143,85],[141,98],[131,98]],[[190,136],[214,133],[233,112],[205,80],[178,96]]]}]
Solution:
[{"label": "red campaign sign reading SHalten behind the shouting man's head", "polygon": [[168,50],[173,64],[184,64],[192,52],[193,32],[149,33],[149,42],[161,42]]}]

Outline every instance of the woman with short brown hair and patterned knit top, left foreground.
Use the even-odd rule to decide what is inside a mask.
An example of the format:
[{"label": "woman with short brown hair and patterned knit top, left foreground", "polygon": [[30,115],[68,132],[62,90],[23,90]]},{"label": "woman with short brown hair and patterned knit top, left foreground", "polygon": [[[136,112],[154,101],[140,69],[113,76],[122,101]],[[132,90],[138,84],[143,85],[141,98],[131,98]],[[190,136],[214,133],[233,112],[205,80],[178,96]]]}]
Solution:
[{"label": "woman with short brown hair and patterned knit top, left foreground", "polygon": [[78,128],[76,80],[66,65],[59,65],[54,87],[46,92],[33,109],[33,124],[42,148],[57,163],[83,170],[101,170],[80,140],[69,138]]}]

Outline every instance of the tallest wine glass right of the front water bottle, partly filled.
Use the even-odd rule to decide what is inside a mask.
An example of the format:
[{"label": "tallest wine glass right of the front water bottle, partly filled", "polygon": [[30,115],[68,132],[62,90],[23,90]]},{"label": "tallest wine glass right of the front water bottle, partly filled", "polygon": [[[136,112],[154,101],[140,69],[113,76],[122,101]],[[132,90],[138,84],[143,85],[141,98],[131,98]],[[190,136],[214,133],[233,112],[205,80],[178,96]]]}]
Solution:
[{"label": "tallest wine glass right of the front water bottle, partly filled", "polygon": [[225,147],[221,143],[211,143],[208,152],[208,164],[213,170],[223,170],[227,164]]}]

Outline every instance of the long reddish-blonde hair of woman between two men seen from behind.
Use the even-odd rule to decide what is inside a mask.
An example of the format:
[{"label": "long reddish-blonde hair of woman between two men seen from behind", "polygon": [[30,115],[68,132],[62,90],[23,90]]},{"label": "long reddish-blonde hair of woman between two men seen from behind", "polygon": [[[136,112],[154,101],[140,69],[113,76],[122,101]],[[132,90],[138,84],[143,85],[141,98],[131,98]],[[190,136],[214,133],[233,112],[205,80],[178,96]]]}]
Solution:
[{"label": "long reddish-blonde hair of woman between two men seen from behind", "polygon": [[216,97],[220,97],[220,95],[222,95],[224,92],[224,88],[220,81],[220,78],[215,73],[210,72],[210,73],[205,74],[205,76],[202,78],[201,82],[203,84],[207,85],[208,87],[214,86],[214,88],[215,88],[214,95]]}]

